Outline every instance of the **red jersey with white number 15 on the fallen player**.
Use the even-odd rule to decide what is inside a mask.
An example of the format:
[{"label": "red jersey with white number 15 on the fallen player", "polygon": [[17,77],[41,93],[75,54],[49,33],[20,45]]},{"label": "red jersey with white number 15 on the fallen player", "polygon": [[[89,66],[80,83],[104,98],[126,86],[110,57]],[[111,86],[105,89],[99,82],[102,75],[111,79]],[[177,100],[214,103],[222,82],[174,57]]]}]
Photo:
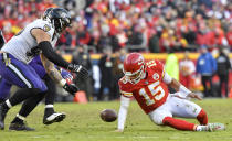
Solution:
[{"label": "red jersey with white number 15 on the fallen player", "polygon": [[146,63],[146,77],[137,84],[131,84],[124,76],[118,82],[122,95],[134,96],[141,109],[149,113],[161,106],[168,95],[167,85],[162,82],[164,65],[155,59]]}]

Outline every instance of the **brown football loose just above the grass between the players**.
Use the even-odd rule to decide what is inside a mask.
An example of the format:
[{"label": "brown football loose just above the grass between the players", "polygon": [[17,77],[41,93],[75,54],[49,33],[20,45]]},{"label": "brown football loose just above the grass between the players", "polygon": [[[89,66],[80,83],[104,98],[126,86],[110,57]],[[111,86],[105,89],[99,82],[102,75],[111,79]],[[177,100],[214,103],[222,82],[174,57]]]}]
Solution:
[{"label": "brown football loose just above the grass between the players", "polygon": [[117,112],[114,109],[104,109],[99,117],[105,122],[113,122],[117,119]]}]

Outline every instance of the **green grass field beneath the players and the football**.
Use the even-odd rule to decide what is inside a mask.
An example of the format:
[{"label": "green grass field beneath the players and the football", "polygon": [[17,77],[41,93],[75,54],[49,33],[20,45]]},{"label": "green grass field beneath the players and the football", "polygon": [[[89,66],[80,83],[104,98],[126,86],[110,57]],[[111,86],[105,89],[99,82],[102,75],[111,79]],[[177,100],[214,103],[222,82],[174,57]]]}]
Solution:
[{"label": "green grass field beneath the players and the football", "polygon": [[[232,140],[232,100],[205,99],[196,101],[208,112],[209,122],[225,123],[225,131],[191,132],[178,131],[168,127],[154,124],[138,107],[136,101],[130,102],[124,133],[114,132],[117,122],[104,122],[99,111],[105,108],[118,110],[119,101],[78,104],[56,104],[56,111],[67,113],[63,122],[52,126],[42,123],[44,105],[28,117],[29,126],[36,129],[34,132],[9,131],[8,127],[20,107],[11,109],[7,116],[6,130],[0,131],[0,141],[229,141]],[[197,123],[197,120],[188,119]]]}]

